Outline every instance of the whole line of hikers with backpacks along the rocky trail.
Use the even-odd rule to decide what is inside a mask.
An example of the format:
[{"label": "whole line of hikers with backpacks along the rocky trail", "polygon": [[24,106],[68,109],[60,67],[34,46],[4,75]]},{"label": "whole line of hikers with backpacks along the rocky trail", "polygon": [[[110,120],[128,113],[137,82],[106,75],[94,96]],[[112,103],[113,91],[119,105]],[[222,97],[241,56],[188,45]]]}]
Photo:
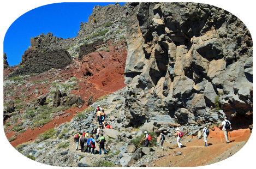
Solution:
[{"label": "whole line of hikers with backpacks along the rocky trail", "polygon": [[[104,108],[97,106],[95,111],[96,111],[96,116],[98,118],[99,126],[98,126],[98,128],[96,128],[94,130],[94,133],[96,134],[96,140],[98,140],[99,135],[100,135],[100,138],[98,141],[99,154],[102,154],[101,149],[103,149],[104,153],[106,153],[106,150],[104,148],[104,144],[105,144],[106,140],[103,135],[103,131],[101,129],[104,129],[104,128],[112,129],[112,126],[109,124],[109,122],[106,122],[106,120],[105,120],[106,114],[104,112]],[[231,130],[231,123],[229,122],[227,117],[224,118],[221,126],[219,126],[219,129],[222,129],[224,131],[224,137],[225,137],[225,140],[227,141],[226,143],[229,143],[228,132],[229,132],[229,130]],[[177,137],[176,139],[177,139],[178,148],[181,148],[182,147],[181,139],[183,137],[183,132],[181,131],[180,128],[176,128],[175,130],[176,130],[176,133],[174,134],[174,136]],[[147,134],[147,131],[144,131],[144,134],[145,134],[145,136],[142,138],[142,141],[145,141],[144,147],[148,147],[148,144],[150,143],[152,138],[149,134]],[[204,125],[203,132],[199,138],[201,138],[201,136],[204,137],[203,141],[205,142],[205,147],[209,146],[207,144],[207,137],[209,136],[209,129],[207,128],[206,125]],[[95,144],[97,144],[96,140],[94,140],[93,135],[89,134],[89,131],[87,131],[87,132],[84,131],[82,134],[79,131],[74,137],[74,141],[76,142],[76,150],[78,150],[78,146],[80,144],[81,152],[94,154],[94,149],[96,148]],[[164,150],[164,147],[163,147],[164,140],[165,140],[165,136],[164,136],[163,132],[160,131],[160,135],[159,135],[159,138],[157,139],[157,141],[159,143],[159,148],[161,148],[162,150]]]}]

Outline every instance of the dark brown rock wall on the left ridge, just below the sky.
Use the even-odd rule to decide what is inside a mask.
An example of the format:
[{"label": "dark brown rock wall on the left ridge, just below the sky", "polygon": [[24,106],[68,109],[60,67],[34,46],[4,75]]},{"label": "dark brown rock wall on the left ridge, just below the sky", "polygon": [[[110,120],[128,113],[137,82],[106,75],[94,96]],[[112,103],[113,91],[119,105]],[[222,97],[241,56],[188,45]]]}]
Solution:
[{"label": "dark brown rock wall on the left ridge, just below the sky", "polygon": [[72,63],[71,56],[64,49],[47,50],[45,52],[31,51],[31,55],[25,64],[15,69],[9,76],[43,73],[52,68],[65,68]]}]

